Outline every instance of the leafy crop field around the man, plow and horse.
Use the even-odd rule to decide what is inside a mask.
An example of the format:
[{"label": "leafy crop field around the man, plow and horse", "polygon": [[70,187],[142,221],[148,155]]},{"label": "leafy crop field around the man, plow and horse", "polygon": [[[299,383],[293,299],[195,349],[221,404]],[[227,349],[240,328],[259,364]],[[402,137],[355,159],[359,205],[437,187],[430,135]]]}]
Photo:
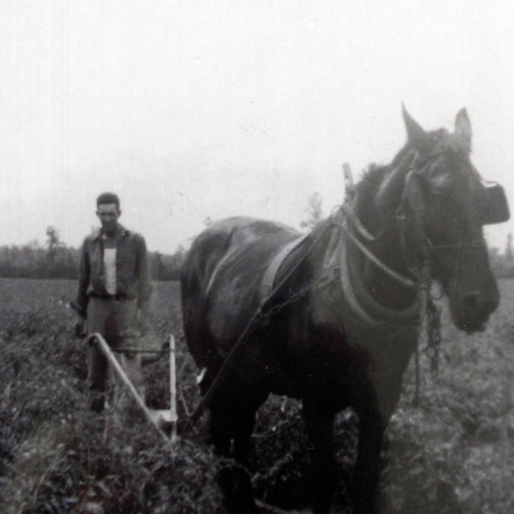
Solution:
[{"label": "leafy crop field around the man, plow and horse", "polygon": [[[0,279],[0,512],[89,514],[223,513],[216,473],[226,463],[205,443],[205,418],[170,449],[142,419],[123,423],[114,408],[86,409],[85,346],[67,308],[73,281]],[[388,429],[384,512],[514,512],[514,281],[487,331],[466,336],[443,316],[439,373],[421,357]],[[178,344],[179,415],[199,401],[198,370],[181,339],[178,285],[158,283],[152,322]],[[423,355],[423,354],[422,354]],[[166,359],[145,368],[149,402],[166,408]],[[350,513],[345,478],[355,458],[356,418],[336,420],[341,481],[337,512]],[[271,397],[255,428],[254,488],[263,512],[306,512],[308,446],[298,402]],[[277,510],[278,511],[278,510]]]}]

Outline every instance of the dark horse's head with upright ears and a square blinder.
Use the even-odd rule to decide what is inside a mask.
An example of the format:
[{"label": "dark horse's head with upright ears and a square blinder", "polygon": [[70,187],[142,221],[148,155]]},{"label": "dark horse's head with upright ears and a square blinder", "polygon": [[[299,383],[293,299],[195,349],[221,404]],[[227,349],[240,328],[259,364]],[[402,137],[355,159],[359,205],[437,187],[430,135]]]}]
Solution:
[{"label": "dark horse's head with upright ears and a square blinder", "polygon": [[407,266],[431,276],[446,292],[455,325],[480,331],[499,303],[483,225],[509,217],[503,189],[487,188],[470,161],[471,125],[465,109],[453,134],[426,132],[403,109],[408,142],[377,193],[382,212],[396,217]]}]

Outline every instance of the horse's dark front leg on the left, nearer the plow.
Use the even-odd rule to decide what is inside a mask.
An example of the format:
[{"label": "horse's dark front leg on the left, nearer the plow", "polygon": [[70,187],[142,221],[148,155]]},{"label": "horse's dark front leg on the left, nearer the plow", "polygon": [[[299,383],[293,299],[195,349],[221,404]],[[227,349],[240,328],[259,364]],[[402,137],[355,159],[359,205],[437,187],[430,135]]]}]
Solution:
[{"label": "horse's dark front leg on the left, nearer the plow", "polygon": [[303,400],[303,414],[311,448],[313,514],[327,514],[337,481],[334,450],[334,413],[324,410],[314,398]]}]

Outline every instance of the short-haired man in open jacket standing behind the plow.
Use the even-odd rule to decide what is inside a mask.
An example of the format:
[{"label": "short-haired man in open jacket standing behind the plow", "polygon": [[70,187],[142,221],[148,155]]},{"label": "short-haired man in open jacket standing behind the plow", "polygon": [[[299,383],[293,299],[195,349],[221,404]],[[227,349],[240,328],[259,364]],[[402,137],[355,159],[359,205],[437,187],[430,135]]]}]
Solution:
[{"label": "short-haired man in open jacket standing behind the plow", "polygon": [[[87,320],[87,333],[99,332],[113,349],[133,346],[134,335],[148,327],[152,292],[144,238],[118,223],[120,200],[114,193],[97,198],[98,233],[82,246],[79,285],[74,305]],[[90,409],[101,412],[105,403],[108,362],[96,345],[87,349]],[[121,363],[136,389],[142,389],[140,358],[123,353]]]}]

